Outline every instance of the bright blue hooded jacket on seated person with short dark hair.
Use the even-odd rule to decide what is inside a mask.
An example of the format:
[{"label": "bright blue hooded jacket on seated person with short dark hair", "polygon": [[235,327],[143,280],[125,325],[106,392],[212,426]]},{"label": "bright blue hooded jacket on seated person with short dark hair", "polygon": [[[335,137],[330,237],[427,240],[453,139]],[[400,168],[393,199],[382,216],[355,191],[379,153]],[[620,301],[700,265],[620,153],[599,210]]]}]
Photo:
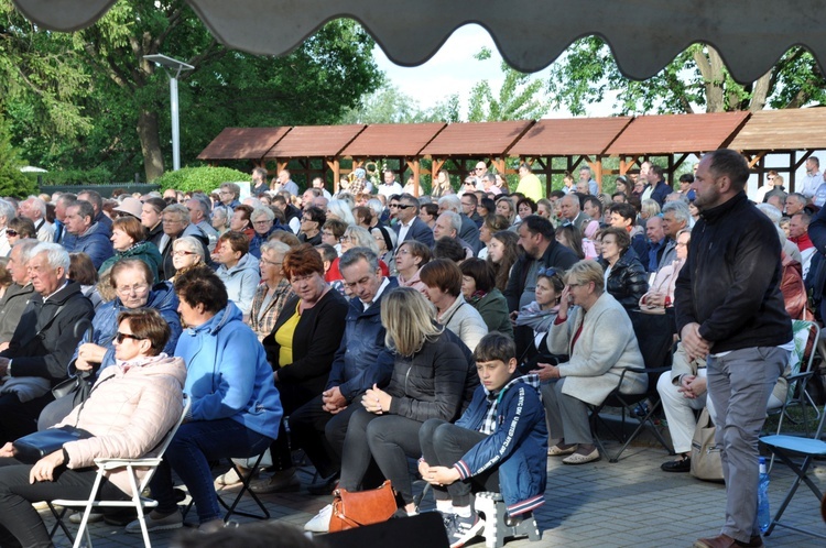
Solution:
[{"label": "bright blue hooded jacket on seated person with short dark hair", "polygon": [[175,355],[186,362],[188,420],[230,418],[275,439],[283,416],[264,348],[231,302],[181,333]]}]

